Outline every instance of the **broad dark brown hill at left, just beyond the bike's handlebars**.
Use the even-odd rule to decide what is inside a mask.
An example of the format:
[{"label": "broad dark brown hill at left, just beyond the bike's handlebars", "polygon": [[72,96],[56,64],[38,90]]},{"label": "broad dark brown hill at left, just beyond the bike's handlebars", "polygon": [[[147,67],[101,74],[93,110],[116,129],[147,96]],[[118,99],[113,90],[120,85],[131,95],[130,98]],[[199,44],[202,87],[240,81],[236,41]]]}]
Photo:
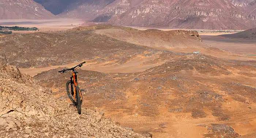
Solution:
[{"label": "broad dark brown hill at left, just beyond the bike's handlebars", "polygon": [[23,68],[62,65],[85,59],[122,63],[146,51],[157,52],[91,31],[14,33],[0,41],[1,59]]}]

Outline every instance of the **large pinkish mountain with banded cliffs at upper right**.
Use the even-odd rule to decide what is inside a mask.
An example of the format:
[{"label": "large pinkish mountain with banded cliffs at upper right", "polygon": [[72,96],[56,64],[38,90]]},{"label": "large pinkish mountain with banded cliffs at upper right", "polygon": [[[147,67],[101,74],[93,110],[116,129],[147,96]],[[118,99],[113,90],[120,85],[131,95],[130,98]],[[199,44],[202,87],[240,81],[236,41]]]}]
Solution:
[{"label": "large pinkish mountain with banded cliffs at upper right", "polygon": [[144,1],[109,23],[168,28],[245,29],[256,24],[255,15],[245,13],[230,1]]}]

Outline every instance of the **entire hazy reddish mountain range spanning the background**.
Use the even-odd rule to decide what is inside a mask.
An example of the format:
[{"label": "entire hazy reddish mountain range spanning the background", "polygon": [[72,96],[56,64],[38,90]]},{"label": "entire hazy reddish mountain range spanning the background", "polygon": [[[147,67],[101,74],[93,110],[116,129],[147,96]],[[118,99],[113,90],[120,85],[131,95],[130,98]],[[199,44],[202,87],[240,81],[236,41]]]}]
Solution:
[{"label": "entire hazy reddish mountain range spanning the background", "polygon": [[[0,9],[9,11],[0,15],[0,19],[26,18],[10,11],[19,11],[18,4],[4,7],[15,0],[0,1]],[[39,17],[52,17],[50,11],[56,18],[114,25],[219,30],[249,29],[256,25],[256,0],[22,0],[19,3],[27,7],[20,9],[21,13],[31,13],[37,5],[42,11]]]}]

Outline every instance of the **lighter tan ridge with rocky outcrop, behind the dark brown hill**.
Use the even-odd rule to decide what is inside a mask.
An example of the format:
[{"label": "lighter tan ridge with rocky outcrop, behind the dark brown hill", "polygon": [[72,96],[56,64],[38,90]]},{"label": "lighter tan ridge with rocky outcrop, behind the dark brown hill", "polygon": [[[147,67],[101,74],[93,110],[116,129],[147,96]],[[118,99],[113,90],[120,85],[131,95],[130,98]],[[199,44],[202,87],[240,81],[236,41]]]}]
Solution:
[{"label": "lighter tan ridge with rocky outcrop, behind the dark brown hill", "polygon": [[113,25],[77,27],[73,30],[80,32],[90,30],[98,35],[103,35],[120,41],[125,41],[130,44],[147,46],[159,50],[182,53],[200,51],[214,57],[237,59],[237,56],[232,53],[228,53],[204,44],[196,31],[161,31],[158,29],[147,29],[142,31],[134,28]]}]

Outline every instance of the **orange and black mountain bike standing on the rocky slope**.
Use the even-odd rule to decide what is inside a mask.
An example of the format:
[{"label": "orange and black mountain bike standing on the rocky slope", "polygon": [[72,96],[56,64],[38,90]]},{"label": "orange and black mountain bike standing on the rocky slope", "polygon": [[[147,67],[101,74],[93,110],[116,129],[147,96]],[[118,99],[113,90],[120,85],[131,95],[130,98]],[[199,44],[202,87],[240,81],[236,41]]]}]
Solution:
[{"label": "orange and black mountain bike standing on the rocky slope", "polygon": [[[78,110],[78,114],[81,114],[81,104],[83,102],[83,96],[78,86],[78,81],[77,81],[78,72],[76,71],[76,68],[82,67],[84,63],[86,62],[84,61],[83,63],[76,65],[73,68],[63,69],[59,71],[59,73],[65,73],[72,70],[72,76],[70,77],[70,80],[67,81],[66,83],[66,90],[67,90],[69,99],[76,106],[76,109]],[[70,91],[69,91],[69,88],[70,88]]]}]

